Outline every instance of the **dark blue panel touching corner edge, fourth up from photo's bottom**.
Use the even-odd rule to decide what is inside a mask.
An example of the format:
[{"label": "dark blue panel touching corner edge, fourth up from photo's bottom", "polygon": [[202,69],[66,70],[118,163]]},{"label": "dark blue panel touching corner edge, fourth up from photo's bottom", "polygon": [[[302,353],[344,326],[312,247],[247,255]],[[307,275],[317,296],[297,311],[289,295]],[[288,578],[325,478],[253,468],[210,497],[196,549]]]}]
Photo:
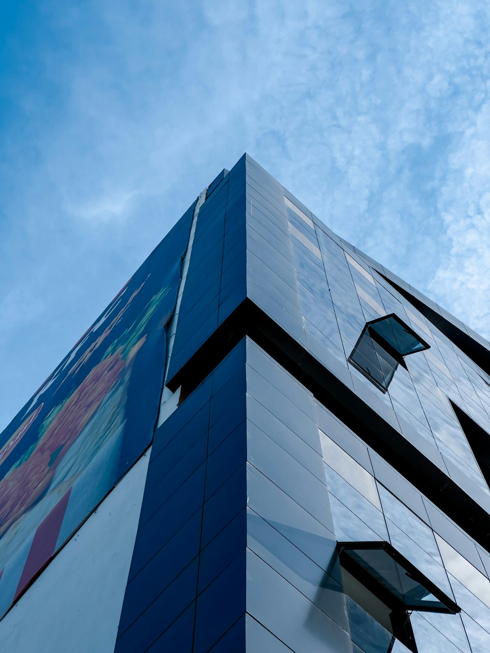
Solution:
[{"label": "dark blue panel touching corner edge, fourth up from photo's bottom", "polygon": [[205,547],[246,505],[246,480],[244,465],[204,503],[201,548]]}]

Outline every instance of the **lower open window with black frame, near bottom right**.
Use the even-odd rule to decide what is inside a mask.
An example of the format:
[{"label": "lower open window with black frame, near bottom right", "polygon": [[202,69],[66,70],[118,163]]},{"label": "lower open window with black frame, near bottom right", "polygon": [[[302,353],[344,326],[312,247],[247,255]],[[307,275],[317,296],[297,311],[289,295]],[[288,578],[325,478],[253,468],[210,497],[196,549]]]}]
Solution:
[{"label": "lower open window with black frame, near bottom right", "polygon": [[398,640],[417,653],[412,611],[457,614],[456,603],[388,542],[338,542],[344,592],[391,633],[386,652]]}]

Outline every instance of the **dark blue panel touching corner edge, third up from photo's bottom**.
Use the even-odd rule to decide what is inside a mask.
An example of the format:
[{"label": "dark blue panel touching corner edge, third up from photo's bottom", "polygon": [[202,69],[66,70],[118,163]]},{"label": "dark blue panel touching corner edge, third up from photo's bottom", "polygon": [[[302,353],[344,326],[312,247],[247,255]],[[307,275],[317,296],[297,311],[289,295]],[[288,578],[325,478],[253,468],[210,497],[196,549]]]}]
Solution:
[{"label": "dark blue panel touching corner edge, third up from photo's bottom", "polygon": [[246,510],[243,508],[201,551],[198,592],[202,592],[239,553],[244,552],[246,539]]}]

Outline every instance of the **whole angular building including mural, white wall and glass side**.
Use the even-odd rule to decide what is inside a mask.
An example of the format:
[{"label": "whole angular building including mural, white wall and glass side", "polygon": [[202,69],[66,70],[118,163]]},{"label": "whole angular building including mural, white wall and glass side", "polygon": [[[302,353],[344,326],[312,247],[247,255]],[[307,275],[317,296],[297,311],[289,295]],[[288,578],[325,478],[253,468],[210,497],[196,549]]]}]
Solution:
[{"label": "whole angular building including mural, white wall and glass side", "polygon": [[490,345],[248,155],[0,439],[0,650],[490,651]]}]

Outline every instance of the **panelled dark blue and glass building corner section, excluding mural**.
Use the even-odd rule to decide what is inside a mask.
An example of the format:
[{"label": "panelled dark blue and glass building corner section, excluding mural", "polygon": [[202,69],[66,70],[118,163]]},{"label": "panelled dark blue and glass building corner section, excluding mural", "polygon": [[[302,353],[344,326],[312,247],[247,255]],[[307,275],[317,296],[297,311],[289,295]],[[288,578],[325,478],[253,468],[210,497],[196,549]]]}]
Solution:
[{"label": "panelled dark blue and glass building corner section, excluding mural", "polygon": [[486,653],[490,345],[248,155],[201,200],[115,650]]}]

